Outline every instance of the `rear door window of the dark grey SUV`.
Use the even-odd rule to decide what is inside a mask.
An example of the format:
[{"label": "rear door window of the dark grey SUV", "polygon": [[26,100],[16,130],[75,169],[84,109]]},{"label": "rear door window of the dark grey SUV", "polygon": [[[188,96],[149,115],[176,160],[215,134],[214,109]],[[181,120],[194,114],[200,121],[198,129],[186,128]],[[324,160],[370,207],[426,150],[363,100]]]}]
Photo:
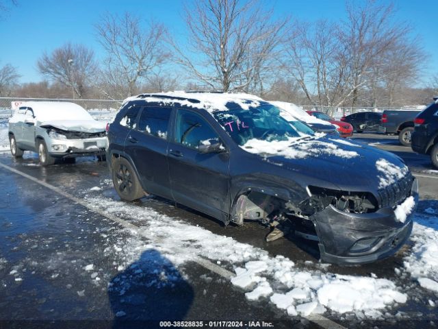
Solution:
[{"label": "rear door window of the dark grey SUV", "polygon": [[138,130],[166,139],[170,112],[172,112],[171,108],[144,106],[138,122]]}]

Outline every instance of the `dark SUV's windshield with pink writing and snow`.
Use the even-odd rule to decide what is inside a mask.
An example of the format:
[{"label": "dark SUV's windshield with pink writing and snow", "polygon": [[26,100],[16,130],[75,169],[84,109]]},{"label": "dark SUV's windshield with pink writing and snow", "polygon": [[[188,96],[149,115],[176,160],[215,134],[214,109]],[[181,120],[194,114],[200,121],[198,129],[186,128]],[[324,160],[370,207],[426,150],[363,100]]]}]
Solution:
[{"label": "dark SUV's windshield with pink writing and snow", "polygon": [[291,138],[313,136],[313,130],[296,121],[287,122],[280,116],[279,108],[260,102],[257,106],[241,108],[236,103],[227,103],[227,111],[213,112],[214,118],[238,145],[250,139],[260,141],[287,141]]}]

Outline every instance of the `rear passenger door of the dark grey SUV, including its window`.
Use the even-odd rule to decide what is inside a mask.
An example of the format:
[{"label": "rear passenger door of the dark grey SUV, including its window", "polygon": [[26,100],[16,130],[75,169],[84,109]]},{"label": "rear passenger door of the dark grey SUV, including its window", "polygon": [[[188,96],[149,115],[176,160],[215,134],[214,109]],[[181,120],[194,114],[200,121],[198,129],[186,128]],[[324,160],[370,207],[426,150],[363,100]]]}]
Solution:
[{"label": "rear passenger door of the dark grey SUV, including its window", "polygon": [[167,163],[168,125],[172,108],[143,106],[138,124],[127,135],[125,153],[147,193],[172,199]]}]

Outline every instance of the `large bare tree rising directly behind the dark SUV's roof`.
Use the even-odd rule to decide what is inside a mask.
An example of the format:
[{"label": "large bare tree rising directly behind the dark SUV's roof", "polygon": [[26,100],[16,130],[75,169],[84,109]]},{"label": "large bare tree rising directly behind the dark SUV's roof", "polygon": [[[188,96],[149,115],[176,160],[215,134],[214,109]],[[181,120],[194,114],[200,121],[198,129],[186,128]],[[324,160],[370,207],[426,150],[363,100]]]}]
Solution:
[{"label": "large bare tree rising directly behind the dark SUV's roof", "polygon": [[263,89],[263,75],[285,33],[258,0],[200,0],[185,8],[190,33],[177,62],[211,89]]}]

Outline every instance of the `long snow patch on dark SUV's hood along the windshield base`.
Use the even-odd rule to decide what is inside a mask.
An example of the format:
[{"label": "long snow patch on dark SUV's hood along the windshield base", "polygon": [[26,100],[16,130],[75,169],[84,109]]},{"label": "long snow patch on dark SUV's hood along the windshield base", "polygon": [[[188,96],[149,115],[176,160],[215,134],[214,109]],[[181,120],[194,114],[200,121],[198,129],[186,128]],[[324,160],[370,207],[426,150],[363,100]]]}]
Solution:
[{"label": "long snow patch on dark SUV's hood along the windshield base", "polygon": [[356,151],[346,151],[334,143],[323,141],[300,141],[300,138],[287,138],[287,141],[261,141],[257,138],[248,140],[242,149],[253,154],[283,156],[289,159],[301,159],[309,156],[333,155],[340,158],[359,156]]}]

